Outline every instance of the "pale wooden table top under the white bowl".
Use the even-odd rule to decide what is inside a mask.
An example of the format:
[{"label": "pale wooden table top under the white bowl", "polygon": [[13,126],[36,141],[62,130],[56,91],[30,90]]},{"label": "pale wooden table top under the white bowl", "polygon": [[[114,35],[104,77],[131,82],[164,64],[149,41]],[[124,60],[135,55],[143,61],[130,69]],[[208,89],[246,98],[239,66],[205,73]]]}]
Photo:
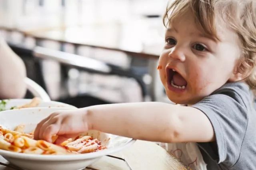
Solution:
[{"label": "pale wooden table top under the white bowl", "polygon": [[[84,170],[187,170],[176,158],[153,142],[137,140],[132,146],[112,156],[125,161],[103,156]],[[0,162],[8,164],[2,157]],[[14,169],[0,165],[0,170]]]}]

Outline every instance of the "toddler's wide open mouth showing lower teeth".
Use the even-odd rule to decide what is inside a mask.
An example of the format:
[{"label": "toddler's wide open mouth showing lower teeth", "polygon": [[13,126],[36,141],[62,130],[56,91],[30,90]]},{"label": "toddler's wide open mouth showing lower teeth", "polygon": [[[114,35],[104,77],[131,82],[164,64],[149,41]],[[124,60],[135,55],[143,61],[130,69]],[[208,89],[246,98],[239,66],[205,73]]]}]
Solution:
[{"label": "toddler's wide open mouth showing lower teeth", "polygon": [[178,73],[176,70],[168,68],[167,69],[167,81],[168,86],[175,88],[177,90],[185,90],[187,87],[187,81]]}]

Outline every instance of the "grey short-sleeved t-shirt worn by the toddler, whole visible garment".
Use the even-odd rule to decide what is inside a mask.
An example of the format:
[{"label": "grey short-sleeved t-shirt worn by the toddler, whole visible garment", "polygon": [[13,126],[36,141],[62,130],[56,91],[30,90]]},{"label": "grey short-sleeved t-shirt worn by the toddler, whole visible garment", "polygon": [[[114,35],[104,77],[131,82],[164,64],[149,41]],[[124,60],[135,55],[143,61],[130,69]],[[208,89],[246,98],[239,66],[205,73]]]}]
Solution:
[{"label": "grey short-sleeved t-shirt worn by the toddler, whole visible garment", "polygon": [[198,143],[208,170],[256,170],[256,111],[247,84],[225,84],[192,107],[214,128],[215,142]]}]

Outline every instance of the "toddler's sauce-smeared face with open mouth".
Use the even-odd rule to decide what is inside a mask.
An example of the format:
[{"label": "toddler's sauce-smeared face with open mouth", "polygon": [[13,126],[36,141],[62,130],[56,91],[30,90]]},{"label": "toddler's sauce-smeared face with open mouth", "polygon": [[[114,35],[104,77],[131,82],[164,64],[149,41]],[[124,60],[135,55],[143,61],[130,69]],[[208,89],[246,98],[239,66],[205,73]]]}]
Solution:
[{"label": "toddler's sauce-smeared face with open mouth", "polygon": [[234,72],[241,54],[238,36],[221,22],[216,23],[216,29],[220,41],[206,36],[192,12],[168,25],[158,69],[172,102],[195,104],[226,82],[236,80]]}]

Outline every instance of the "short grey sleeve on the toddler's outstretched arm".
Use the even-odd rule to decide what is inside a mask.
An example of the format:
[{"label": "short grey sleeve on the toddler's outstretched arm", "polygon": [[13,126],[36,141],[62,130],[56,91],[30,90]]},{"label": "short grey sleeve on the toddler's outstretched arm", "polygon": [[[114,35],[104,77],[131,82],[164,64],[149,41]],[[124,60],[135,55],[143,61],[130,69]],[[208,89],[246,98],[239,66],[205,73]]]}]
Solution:
[{"label": "short grey sleeve on the toddler's outstretched arm", "polygon": [[225,86],[192,107],[201,110],[214,128],[215,142],[198,143],[212,160],[232,166],[240,156],[248,124],[248,86]]}]

